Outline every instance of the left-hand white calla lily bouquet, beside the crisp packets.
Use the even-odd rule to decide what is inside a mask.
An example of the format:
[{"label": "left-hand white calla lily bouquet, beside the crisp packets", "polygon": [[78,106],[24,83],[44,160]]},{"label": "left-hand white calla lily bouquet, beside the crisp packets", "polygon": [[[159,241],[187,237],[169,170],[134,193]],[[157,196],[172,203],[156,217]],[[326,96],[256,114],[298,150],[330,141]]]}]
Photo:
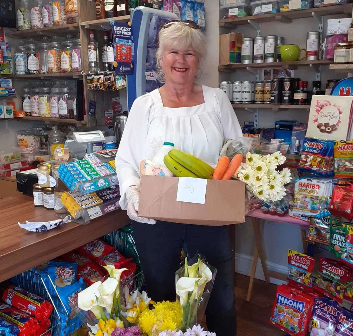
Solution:
[{"label": "left-hand white calla lily bouquet, beside the crisp packets", "polygon": [[[77,316],[91,330],[93,336],[110,336],[116,327],[123,327],[121,315],[120,276],[126,268],[116,269],[113,265],[103,266],[109,273],[104,282],[97,281],[78,293]],[[96,320],[82,311],[92,312]]]}]

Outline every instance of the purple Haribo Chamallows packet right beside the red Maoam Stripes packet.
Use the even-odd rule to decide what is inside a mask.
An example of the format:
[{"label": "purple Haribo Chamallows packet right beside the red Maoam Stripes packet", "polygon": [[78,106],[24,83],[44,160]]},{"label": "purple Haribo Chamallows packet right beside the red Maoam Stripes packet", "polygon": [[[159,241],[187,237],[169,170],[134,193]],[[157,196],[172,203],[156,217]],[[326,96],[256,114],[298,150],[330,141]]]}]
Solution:
[{"label": "purple Haribo Chamallows packet right beside the red Maoam Stripes packet", "polygon": [[333,335],[336,328],[337,314],[342,310],[343,308],[333,300],[316,298],[309,326],[310,336]]}]

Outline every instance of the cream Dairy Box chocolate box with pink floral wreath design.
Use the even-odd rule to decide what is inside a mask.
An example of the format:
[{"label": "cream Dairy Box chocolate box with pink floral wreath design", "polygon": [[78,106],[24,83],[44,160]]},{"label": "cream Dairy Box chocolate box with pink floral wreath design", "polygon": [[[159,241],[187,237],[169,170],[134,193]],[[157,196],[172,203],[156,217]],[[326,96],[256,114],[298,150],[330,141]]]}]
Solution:
[{"label": "cream Dairy Box chocolate box with pink floral wreath design", "polygon": [[312,96],[306,137],[350,140],[352,96]]}]

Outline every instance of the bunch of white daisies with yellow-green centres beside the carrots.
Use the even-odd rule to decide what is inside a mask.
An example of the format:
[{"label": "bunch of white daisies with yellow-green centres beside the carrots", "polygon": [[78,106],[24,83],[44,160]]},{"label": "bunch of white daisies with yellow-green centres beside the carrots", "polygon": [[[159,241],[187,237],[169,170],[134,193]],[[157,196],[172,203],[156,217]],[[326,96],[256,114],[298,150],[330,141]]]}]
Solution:
[{"label": "bunch of white daisies with yellow-green centres beside the carrots", "polygon": [[245,163],[241,163],[233,178],[243,181],[246,189],[262,201],[279,201],[286,195],[285,184],[291,181],[291,171],[278,166],[286,161],[279,151],[273,154],[260,155],[247,152]]}]

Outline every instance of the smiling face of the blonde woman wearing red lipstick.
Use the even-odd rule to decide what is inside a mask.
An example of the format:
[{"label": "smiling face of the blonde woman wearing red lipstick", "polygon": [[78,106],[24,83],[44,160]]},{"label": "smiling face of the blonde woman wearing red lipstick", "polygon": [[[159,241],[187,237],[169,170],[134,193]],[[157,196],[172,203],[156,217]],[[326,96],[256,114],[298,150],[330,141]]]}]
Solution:
[{"label": "smiling face of the blonde woman wearing red lipstick", "polygon": [[184,84],[193,82],[199,68],[199,58],[192,48],[177,50],[167,48],[161,59],[166,82]]}]

